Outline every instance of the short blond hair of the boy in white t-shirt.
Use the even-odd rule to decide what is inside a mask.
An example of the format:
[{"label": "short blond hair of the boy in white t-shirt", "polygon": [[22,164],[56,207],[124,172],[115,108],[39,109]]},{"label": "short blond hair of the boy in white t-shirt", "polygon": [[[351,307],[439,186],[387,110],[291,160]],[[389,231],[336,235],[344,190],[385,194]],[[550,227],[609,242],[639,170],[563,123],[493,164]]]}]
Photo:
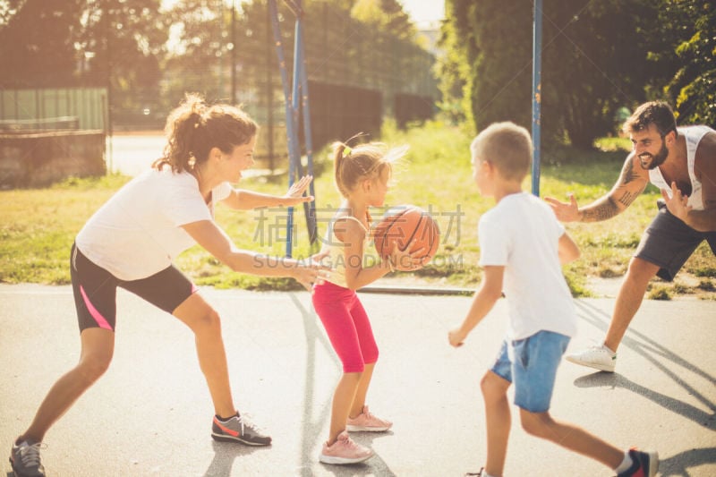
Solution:
[{"label": "short blond hair of the boy in white t-shirt", "polygon": [[530,172],[533,144],[522,126],[506,121],[482,130],[470,144],[473,161],[489,161],[507,180],[522,181]]}]

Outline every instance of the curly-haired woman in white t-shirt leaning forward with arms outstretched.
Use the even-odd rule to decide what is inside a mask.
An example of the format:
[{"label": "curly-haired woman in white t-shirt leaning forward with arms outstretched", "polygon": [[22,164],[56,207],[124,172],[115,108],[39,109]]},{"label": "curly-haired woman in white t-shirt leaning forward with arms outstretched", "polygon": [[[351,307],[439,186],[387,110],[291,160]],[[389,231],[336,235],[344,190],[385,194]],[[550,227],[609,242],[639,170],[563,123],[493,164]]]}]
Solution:
[{"label": "curly-haired woman in white t-shirt leaning forward with arms outstretched", "polygon": [[253,165],[257,125],[242,110],[187,95],[166,121],[164,157],[134,178],[90,218],[72,246],[72,288],[81,330],[81,359],[60,378],[13,445],[18,473],[44,475],[39,443],[49,427],[106,370],[115,346],[115,295],[121,286],[180,319],[196,336],[201,371],[216,415],[212,437],[267,446],[271,438],[243,418],[229,385],[220,319],[192,281],[173,265],[199,243],[233,270],[294,277],[310,289],[320,266],[235,247],[214,221],[214,205],[232,209],[294,206],[311,197],[303,177],[284,196],[234,189]]}]

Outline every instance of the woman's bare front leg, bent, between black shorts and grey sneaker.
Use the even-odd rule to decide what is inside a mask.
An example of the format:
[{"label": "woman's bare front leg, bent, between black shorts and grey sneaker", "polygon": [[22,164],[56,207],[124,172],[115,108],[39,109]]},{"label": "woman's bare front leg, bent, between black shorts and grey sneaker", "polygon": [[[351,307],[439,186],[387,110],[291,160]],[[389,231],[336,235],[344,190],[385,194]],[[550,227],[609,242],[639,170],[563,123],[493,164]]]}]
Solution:
[{"label": "woman's bare front leg, bent, between black shorts and grey sneaker", "polygon": [[226,352],[221,337],[221,319],[217,311],[201,294],[195,293],[172,314],[194,332],[199,365],[207,380],[215,413],[221,417],[234,415],[236,407],[231,396]]}]

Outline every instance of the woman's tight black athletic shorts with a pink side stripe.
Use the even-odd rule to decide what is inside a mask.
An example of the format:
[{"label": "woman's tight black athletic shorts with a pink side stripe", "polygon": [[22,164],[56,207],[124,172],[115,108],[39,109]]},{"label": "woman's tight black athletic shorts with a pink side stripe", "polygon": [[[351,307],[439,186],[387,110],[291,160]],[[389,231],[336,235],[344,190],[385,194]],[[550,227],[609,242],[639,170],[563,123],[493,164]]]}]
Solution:
[{"label": "woman's tight black athletic shorts with a pink side stripe", "polygon": [[197,290],[192,281],[174,266],[140,280],[120,280],[90,261],[75,244],[72,244],[70,275],[80,332],[85,328],[115,330],[117,286],[167,313],[175,311]]}]

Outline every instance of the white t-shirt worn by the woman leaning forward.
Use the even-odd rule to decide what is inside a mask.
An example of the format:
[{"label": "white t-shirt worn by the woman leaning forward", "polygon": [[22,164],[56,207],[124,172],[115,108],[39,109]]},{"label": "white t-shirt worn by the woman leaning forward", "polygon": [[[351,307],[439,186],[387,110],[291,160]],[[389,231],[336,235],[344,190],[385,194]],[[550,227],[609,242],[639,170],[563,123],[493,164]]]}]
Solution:
[{"label": "white t-shirt worn by the woman leaning forward", "polygon": [[117,278],[146,278],[169,267],[195,244],[181,226],[213,220],[214,204],[231,191],[229,183],[218,185],[207,205],[193,175],[151,169],[107,200],[82,227],[75,243],[88,259]]}]

